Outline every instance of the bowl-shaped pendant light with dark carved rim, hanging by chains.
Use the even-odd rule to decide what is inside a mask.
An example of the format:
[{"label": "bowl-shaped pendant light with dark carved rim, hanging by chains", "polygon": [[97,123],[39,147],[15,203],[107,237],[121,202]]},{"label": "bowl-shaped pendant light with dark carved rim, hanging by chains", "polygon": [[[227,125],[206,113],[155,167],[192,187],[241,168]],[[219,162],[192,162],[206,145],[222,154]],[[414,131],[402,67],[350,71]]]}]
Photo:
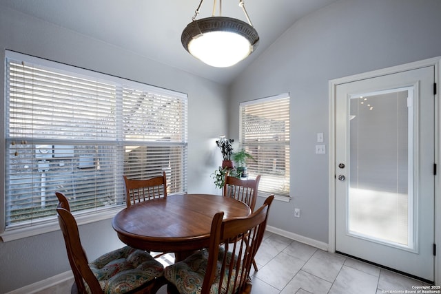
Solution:
[{"label": "bowl-shaped pendant light with dark carved rim, hanging by chains", "polygon": [[229,67],[245,59],[256,50],[259,36],[249,20],[243,0],[239,1],[248,23],[222,16],[222,0],[219,1],[219,16],[216,17],[216,0],[213,3],[212,17],[198,19],[203,0],[183,30],[181,41],[185,50],[207,65]]}]

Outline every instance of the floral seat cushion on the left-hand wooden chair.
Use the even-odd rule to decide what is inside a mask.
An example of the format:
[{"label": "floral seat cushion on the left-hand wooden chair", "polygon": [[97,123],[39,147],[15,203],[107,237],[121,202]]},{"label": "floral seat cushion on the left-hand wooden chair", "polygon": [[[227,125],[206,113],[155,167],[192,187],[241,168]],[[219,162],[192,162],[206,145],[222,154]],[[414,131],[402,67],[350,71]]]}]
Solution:
[{"label": "floral seat cushion on the left-hand wooden chair", "polygon": [[160,277],[164,269],[150,253],[130,246],[106,253],[89,266],[104,293],[126,293]]}]

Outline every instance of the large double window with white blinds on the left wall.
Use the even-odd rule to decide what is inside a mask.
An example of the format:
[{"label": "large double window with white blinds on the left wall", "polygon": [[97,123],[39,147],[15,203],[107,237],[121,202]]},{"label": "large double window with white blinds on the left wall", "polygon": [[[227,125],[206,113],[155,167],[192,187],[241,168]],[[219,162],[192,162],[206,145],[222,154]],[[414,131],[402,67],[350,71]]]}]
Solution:
[{"label": "large double window with white blinds on the left wall", "polygon": [[53,223],[55,191],[77,214],[125,205],[123,174],[187,189],[187,95],[15,52],[5,92],[5,231]]}]

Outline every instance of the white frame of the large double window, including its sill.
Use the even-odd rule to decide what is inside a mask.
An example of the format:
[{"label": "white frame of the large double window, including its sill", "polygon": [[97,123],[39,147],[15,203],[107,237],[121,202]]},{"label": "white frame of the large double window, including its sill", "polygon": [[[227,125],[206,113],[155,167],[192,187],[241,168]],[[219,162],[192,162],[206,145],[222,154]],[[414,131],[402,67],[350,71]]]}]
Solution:
[{"label": "white frame of the large double window, including its sill", "polygon": [[[179,97],[182,98],[183,101],[185,101],[185,114],[183,119],[185,120],[185,129],[183,130],[183,132],[185,134],[183,134],[184,136],[184,142],[183,143],[170,143],[171,145],[181,145],[183,150],[184,150],[184,157],[183,157],[183,162],[182,162],[182,166],[181,168],[183,169],[183,172],[185,173],[185,175],[183,176],[184,181],[183,182],[183,189],[187,189],[187,147],[188,147],[188,130],[187,130],[187,113],[188,113],[188,98],[187,98],[187,94],[183,94],[180,92],[176,92],[176,91],[172,91],[172,90],[167,90],[167,89],[163,89],[161,87],[155,87],[152,85],[147,85],[145,83],[139,83],[136,81],[131,81],[131,80],[127,80],[125,78],[120,78],[117,76],[111,76],[108,74],[103,74],[100,72],[94,72],[92,70],[87,70],[87,69],[83,69],[80,67],[75,67],[72,65],[66,65],[64,63],[57,63],[55,61],[49,61],[47,59],[40,59],[34,56],[29,56],[29,55],[25,55],[25,54],[21,54],[19,52],[13,52],[10,50],[6,50],[5,54],[2,54],[2,57],[4,58],[5,61],[5,67],[4,67],[4,71],[3,71],[3,83],[4,83],[4,87],[1,90],[2,94],[3,94],[3,98],[1,99],[0,102],[0,109],[1,109],[1,113],[3,114],[3,128],[0,132],[1,134],[1,144],[2,144],[2,149],[0,150],[0,162],[3,163],[3,169],[1,169],[0,171],[0,191],[3,191],[3,196],[0,197],[0,237],[3,240],[3,242],[8,242],[11,240],[17,240],[19,238],[26,238],[32,235],[39,235],[41,233],[48,233],[50,231],[57,231],[59,230],[59,224],[58,224],[58,220],[57,220],[57,216],[56,214],[52,217],[50,217],[50,219],[48,220],[39,220],[37,222],[37,224],[32,224],[29,227],[12,227],[10,229],[6,229],[6,169],[8,169],[8,167],[6,167],[6,143],[8,142],[6,136],[6,124],[8,123],[8,118],[6,117],[7,114],[7,110],[6,109],[6,105],[8,105],[8,97],[6,95],[8,95],[8,72],[7,72],[7,68],[8,68],[8,59],[14,59],[17,61],[24,61],[27,63],[33,63],[36,65],[41,65],[43,67],[50,67],[53,68],[54,70],[61,70],[63,72],[69,72],[74,76],[85,76],[88,78],[92,78],[94,80],[97,81],[105,81],[105,82],[112,82],[115,84],[118,84],[119,87],[121,87],[121,89],[123,87],[136,87],[136,89],[141,89],[141,90],[145,90],[145,91],[150,91],[154,94],[158,94],[158,95],[171,95],[171,96],[175,96],[175,97]],[[117,91],[118,92],[118,91]],[[121,90],[119,90],[119,92],[121,92]],[[123,98],[123,95],[121,93],[116,94],[116,104],[120,104],[121,100]],[[121,130],[121,127],[116,127],[116,129],[118,129],[117,132],[123,132]],[[118,136],[122,136],[121,134],[119,134]],[[116,146],[119,146],[119,140],[116,140],[115,144]],[[99,144],[100,141],[98,141],[97,143]],[[129,141],[127,140],[127,143],[134,143],[133,141]],[[127,145],[127,143],[125,143],[125,145]],[[81,144],[81,143],[80,143]],[[143,141],[138,141],[136,142],[137,145],[139,146],[148,146],[148,145],[157,145],[156,143],[145,143]],[[116,151],[116,154],[119,154],[119,151]],[[119,158],[124,158],[124,156],[119,156]],[[118,165],[123,164],[122,162],[119,162]],[[116,171],[117,174],[119,174],[122,169],[121,169],[121,165],[120,167],[116,167]],[[121,181],[119,181],[119,184],[121,183],[121,185],[123,185],[123,180],[121,177]],[[121,190],[122,193],[124,193],[124,189],[123,187],[118,187],[116,191]],[[100,220],[107,220],[109,218],[112,218],[116,213],[118,213],[119,211],[121,211],[121,209],[125,208],[125,202],[122,203],[115,203],[112,204],[111,206],[105,207],[105,209],[94,209],[93,211],[88,211],[88,209],[85,209],[83,211],[77,211],[74,212],[74,215],[76,217],[76,220],[78,222],[78,224],[88,224],[91,222],[98,222]]]}]

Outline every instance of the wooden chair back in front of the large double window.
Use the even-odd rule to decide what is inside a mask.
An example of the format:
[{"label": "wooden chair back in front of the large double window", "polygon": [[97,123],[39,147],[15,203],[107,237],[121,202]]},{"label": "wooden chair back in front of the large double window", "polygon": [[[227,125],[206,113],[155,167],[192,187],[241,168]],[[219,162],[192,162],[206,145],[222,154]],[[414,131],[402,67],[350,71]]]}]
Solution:
[{"label": "wooden chair back in front of the large double window", "polygon": [[127,207],[145,200],[167,197],[167,177],[162,176],[147,180],[131,180],[123,176],[125,182],[125,200]]}]

